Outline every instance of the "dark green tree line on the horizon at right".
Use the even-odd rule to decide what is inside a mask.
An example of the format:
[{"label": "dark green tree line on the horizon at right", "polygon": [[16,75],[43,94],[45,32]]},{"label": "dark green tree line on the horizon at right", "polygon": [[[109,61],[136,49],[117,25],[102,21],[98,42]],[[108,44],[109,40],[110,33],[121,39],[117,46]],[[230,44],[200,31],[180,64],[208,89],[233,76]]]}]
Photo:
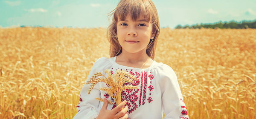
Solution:
[{"label": "dark green tree line on the horizon at right", "polygon": [[196,24],[196,25],[177,25],[175,27],[176,29],[179,28],[236,28],[236,29],[242,29],[242,28],[256,28],[256,20],[255,21],[242,21],[242,22],[236,22],[236,21],[230,21],[230,22],[217,22],[212,24]]}]

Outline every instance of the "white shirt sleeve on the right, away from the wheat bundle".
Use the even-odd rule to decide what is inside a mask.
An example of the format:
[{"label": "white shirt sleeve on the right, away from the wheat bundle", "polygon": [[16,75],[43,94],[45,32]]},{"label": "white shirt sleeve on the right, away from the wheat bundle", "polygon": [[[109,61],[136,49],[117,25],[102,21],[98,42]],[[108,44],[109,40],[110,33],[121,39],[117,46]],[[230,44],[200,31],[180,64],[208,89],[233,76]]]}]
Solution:
[{"label": "white shirt sleeve on the right, away from the wheat bundle", "polygon": [[175,72],[168,65],[164,65],[162,73],[160,86],[164,119],[189,119]]}]

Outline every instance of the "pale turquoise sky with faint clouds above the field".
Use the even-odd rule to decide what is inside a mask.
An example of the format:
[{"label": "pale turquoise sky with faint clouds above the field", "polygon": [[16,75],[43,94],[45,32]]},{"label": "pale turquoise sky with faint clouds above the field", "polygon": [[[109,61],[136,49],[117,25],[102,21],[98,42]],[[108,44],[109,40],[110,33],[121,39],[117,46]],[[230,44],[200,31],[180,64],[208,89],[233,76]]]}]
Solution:
[{"label": "pale turquoise sky with faint clouds above the field", "polygon": [[[256,20],[256,0],[152,0],[160,27]],[[107,28],[119,0],[0,0],[0,27]]]}]

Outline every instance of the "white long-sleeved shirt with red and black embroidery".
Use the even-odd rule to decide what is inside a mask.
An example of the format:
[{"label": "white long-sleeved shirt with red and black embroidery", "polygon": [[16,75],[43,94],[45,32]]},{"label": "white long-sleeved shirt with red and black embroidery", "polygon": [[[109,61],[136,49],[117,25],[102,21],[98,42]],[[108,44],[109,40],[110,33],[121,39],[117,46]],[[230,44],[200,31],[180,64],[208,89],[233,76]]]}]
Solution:
[{"label": "white long-sleeved shirt with red and black embroidery", "polygon": [[[104,71],[110,69],[115,73],[117,69],[126,70],[137,78],[137,81],[125,83],[125,85],[134,85],[138,89],[122,91],[122,101],[127,100],[128,117],[131,119],[189,119],[186,106],[180,91],[175,72],[162,62],[153,62],[149,68],[132,68],[116,63],[116,57],[99,58],[93,65],[88,77],[101,72],[108,77]],[[100,97],[112,100],[105,91],[99,88],[107,87],[104,82],[95,85],[90,94],[88,90],[90,84],[84,85],[80,92],[79,104],[77,105],[76,115],[73,119],[94,119],[98,116],[103,102],[95,98]],[[108,105],[111,110],[115,105]]]}]

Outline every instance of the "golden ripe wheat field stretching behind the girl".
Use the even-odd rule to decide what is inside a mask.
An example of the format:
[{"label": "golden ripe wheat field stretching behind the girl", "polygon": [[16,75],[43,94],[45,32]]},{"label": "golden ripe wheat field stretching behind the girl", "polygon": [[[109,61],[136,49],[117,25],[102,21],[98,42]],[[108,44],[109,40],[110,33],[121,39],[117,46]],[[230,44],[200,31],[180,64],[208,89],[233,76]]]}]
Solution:
[{"label": "golden ripe wheat field stretching behind the girl", "polygon": [[[0,119],[72,119],[105,28],[0,28]],[[190,119],[256,119],[256,30],[163,28]]]}]

